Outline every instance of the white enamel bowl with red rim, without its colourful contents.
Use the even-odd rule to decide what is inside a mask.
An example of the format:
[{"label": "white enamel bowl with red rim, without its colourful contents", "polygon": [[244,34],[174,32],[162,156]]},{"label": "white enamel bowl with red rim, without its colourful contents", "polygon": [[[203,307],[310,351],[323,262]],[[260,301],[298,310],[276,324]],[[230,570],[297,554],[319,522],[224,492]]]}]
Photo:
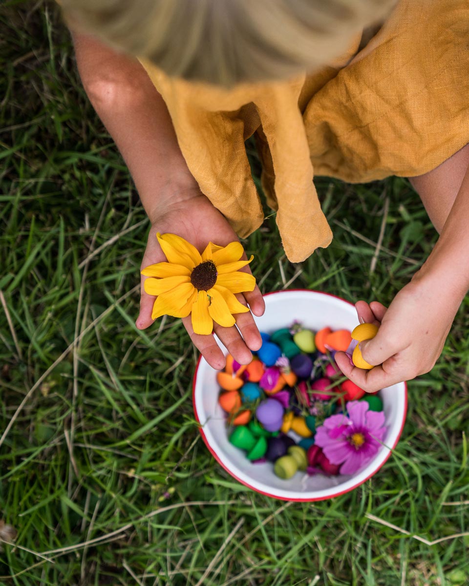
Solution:
[{"label": "white enamel bowl with red rim, without its colourful contents", "polygon": [[[266,311],[260,318],[254,316],[261,332],[273,333],[288,327],[294,319],[315,331],[329,326],[352,330],[358,325],[354,305],[326,293],[293,289],[276,291],[264,296]],[[227,350],[216,338],[226,354]],[[393,384],[380,393],[386,418],[387,432],[383,446],[365,468],[354,475],[308,476],[297,472],[289,480],[274,474],[273,464],[252,464],[241,449],[230,444],[226,431],[226,414],[218,404],[220,387],[217,370],[199,359],[193,377],[193,406],[200,433],[212,455],[233,478],[263,495],[284,500],[323,500],[342,495],[368,480],[386,462],[391,449],[396,447],[404,426],[407,411],[406,383]]]}]

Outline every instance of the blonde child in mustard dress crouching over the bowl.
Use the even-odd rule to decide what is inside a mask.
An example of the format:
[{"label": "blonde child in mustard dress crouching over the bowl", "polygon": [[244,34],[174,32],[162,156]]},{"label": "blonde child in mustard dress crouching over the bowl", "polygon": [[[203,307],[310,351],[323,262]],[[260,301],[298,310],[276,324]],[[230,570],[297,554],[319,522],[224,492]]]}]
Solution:
[{"label": "blonde child in mustard dress crouching over the bowl", "polygon": [[[332,237],[313,169],[349,182],[408,176],[440,239],[388,309],[356,304],[361,321],[381,324],[361,346],[364,359],[380,366],[365,372],[344,353],[336,360],[366,391],[433,367],[469,287],[461,253],[469,244],[465,0],[62,5],[84,87],[152,223],[142,267],[165,260],[156,231],[202,250],[260,226],[244,149],[254,133],[264,192],[293,262]],[[362,27],[383,16],[359,50]],[[263,314],[258,287],[238,298]],[[138,328],[152,323],[153,302],[142,286]],[[190,316],[183,323],[206,360],[222,368],[213,335],[195,335]],[[216,326],[215,333],[247,363],[250,349],[260,347],[259,332],[250,312],[237,316],[237,326]]]}]

